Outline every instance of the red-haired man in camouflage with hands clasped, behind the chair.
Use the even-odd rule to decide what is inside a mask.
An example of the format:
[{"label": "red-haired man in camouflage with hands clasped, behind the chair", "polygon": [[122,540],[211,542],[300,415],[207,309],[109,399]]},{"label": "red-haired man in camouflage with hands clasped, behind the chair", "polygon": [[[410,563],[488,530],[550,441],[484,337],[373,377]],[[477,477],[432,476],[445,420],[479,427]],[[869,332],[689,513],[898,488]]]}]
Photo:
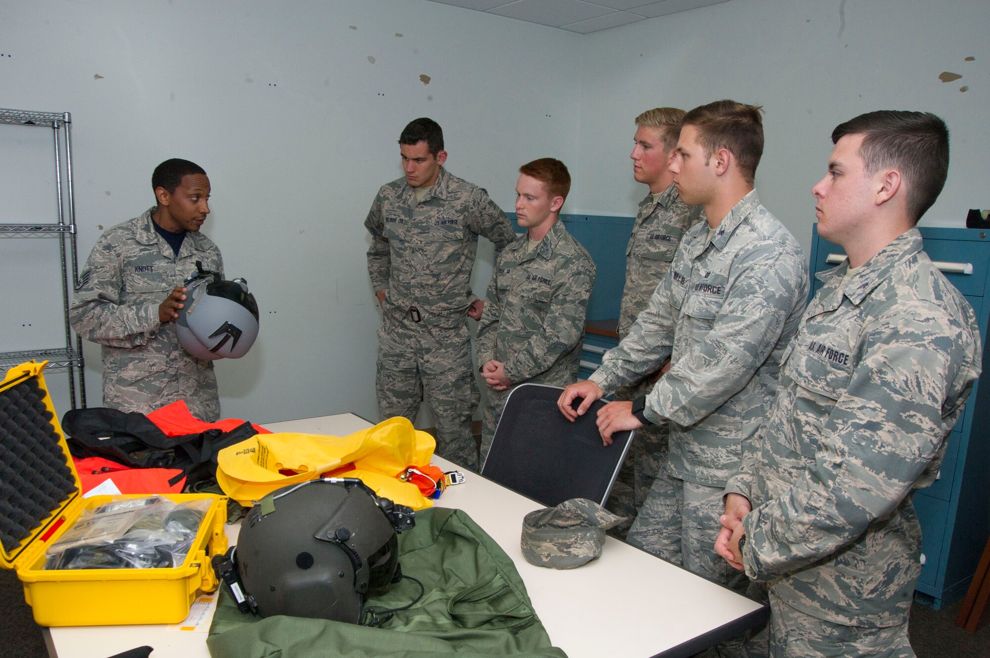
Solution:
[{"label": "red-haired man in camouflage with hands clasped, behind the chair", "polygon": [[505,401],[524,382],[563,385],[581,361],[595,264],[560,222],[570,191],[567,167],[540,158],[519,168],[516,220],[527,229],[495,263],[476,347],[488,385],[481,459],[491,449]]}]

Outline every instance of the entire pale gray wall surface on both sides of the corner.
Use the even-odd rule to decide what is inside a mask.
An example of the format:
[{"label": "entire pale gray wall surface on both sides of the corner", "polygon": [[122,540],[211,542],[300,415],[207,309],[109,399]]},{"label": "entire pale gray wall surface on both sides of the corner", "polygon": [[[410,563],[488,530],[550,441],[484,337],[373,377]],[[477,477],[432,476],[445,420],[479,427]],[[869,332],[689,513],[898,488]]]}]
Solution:
[{"label": "entire pale gray wall surface on both sides of the corner", "polygon": [[[636,115],[759,104],[756,186],[807,248],[832,128],[929,110],[953,140],[925,222],[961,225],[990,206],[987,25],[983,0],[732,0],[586,36],[425,0],[0,0],[0,107],[72,113],[81,260],[152,204],[155,164],[209,172],[204,231],[262,313],[254,349],[218,365],[224,415],[374,418],[362,220],[401,175],[409,120],[442,123],[449,170],[507,210],[518,166],[554,156],[574,176],[565,212],[632,214],[645,192],[628,159]],[[963,77],[942,83],[942,71]],[[52,211],[48,139],[0,126],[0,221]],[[58,341],[56,258],[51,241],[0,240],[0,351]],[[485,244],[478,293],[490,273]],[[86,358],[97,404],[98,348]],[[49,375],[60,410],[62,379]]]}]

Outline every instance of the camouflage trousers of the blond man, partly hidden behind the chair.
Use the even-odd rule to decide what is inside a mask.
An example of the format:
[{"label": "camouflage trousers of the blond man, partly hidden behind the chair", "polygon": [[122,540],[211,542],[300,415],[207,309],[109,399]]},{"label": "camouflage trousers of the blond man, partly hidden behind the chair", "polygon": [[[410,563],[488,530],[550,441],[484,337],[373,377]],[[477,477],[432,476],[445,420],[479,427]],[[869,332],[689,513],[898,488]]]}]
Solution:
[{"label": "camouflage trousers of the blond man, partly hidden behind the chair", "polygon": [[[645,395],[653,387],[652,382],[642,381],[634,386],[620,386],[615,393],[617,400],[635,400],[641,395]],[[673,481],[664,471],[664,464],[667,461],[667,441],[670,437],[670,426],[664,422],[661,425],[649,425],[636,431],[633,445],[626,453],[622,468],[615,484],[612,485],[612,493],[605,502],[605,507],[610,512],[625,517],[624,521],[611,531],[610,535],[625,539],[629,533],[633,520],[640,513],[640,508],[653,486],[665,487],[670,496],[673,495]],[[656,483],[656,479],[662,480]],[[669,518],[669,517],[667,517]],[[671,534],[680,531],[680,523],[670,529]],[[680,564],[680,543],[671,544],[669,548],[661,551],[660,556],[664,559]]]}]

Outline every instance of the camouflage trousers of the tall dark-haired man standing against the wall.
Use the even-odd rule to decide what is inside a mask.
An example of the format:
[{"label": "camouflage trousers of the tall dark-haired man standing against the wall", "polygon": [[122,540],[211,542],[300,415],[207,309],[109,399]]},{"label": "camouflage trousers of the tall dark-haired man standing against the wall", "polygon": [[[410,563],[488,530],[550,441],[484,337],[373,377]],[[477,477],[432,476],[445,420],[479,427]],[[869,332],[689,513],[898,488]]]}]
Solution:
[{"label": "camouflage trousers of the tall dark-haired man standing against the wall", "polygon": [[469,470],[478,469],[471,415],[480,401],[467,324],[428,327],[408,315],[383,319],[378,329],[375,370],[378,413],[416,422],[426,401],[437,424],[437,454]]}]

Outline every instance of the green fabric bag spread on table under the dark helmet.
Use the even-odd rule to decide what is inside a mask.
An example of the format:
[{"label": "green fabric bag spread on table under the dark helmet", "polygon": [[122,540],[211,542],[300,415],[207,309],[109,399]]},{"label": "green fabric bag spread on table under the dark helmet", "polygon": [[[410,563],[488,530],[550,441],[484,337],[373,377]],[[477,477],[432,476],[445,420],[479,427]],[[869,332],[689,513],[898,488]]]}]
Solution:
[{"label": "green fabric bag spread on table under the dark helmet", "polygon": [[[399,535],[402,572],[422,598],[377,626],[303,617],[254,617],[224,588],[206,643],[213,658],[566,658],[549,637],[512,560],[460,510],[416,513]],[[365,609],[408,606],[413,581],[370,592]]]}]

